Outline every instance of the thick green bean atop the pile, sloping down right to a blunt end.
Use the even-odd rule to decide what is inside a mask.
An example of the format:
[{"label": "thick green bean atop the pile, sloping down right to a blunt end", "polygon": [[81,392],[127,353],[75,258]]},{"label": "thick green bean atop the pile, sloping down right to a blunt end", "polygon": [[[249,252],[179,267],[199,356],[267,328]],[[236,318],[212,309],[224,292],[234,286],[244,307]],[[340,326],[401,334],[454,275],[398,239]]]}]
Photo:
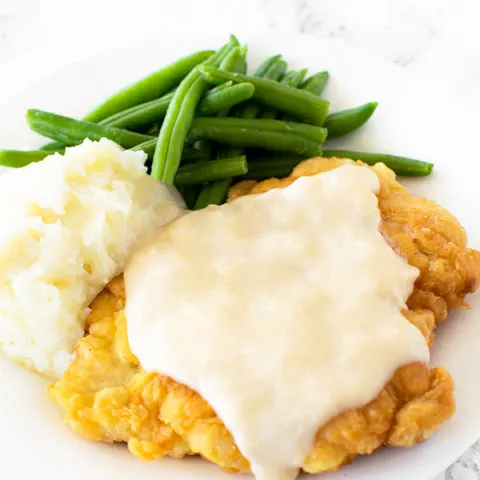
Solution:
[{"label": "thick green bean atop the pile, sloping down right to a blunt end", "polygon": [[265,78],[222,72],[208,65],[202,65],[199,70],[208,82],[214,84],[227,80],[237,83],[250,82],[255,87],[254,99],[307,123],[322,125],[327,116],[329,103],[308,91],[281,85]]}]

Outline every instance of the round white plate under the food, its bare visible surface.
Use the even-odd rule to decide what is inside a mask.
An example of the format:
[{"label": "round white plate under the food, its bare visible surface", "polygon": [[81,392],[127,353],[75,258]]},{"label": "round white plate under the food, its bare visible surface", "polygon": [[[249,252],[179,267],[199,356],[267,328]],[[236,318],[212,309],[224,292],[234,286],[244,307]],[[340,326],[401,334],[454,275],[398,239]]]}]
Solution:
[{"label": "round white plate under the food, its bare visible surface", "polygon": [[[108,94],[179,56],[225,41],[218,33],[163,32],[148,44],[114,51],[71,64],[26,89],[0,108],[0,146],[35,147],[24,111],[43,108],[82,115]],[[435,163],[432,177],[411,180],[414,192],[438,200],[462,221],[470,244],[480,246],[477,184],[478,155],[470,154],[476,139],[476,119],[458,111],[434,85],[394,66],[381,63],[333,41],[246,33],[251,66],[283,53],[292,68],[311,72],[328,69],[326,97],[332,109],[378,100],[373,120],[360,132],[338,142],[358,150],[410,155]],[[473,150],[474,153],[476,149]],[[451,315],[438,329],[433,364],[445,365],[456,382],[457,414],[428,442],[413,449],[383,449],[356,460],[323,480],[426,480],[445,469],[480,435],[480,298],[472,310]],[[96,444],[75,436],[63,424],[60,411],[44,393],[45,382],[0,358],[0,478],[104,480],[115,478],[223,480],[232,478],[200,459],[143,463],[124,446]],[[235,478],[235,477],[234,477]],[[317,477],[310,477],[317,478]]]}]

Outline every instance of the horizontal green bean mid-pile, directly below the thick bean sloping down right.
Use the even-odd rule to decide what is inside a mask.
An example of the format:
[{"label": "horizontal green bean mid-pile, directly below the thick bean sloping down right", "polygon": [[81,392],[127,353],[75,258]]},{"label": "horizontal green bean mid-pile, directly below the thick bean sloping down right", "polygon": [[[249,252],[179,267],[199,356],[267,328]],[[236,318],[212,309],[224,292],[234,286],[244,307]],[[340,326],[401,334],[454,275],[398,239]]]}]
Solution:
[{"label": "horizontal green bean mid-pile, directly below the thick bean sloping down right", "polygon": [[284,122],[283,120],[246,119],[246,118],[196,118],[192,122],[187,136],[187,143],[193,143],[202,138],[217,138],[224,129],[258,132],[279,132],[297,134],[316,143],[323,143],[327,138],[327,130],[308,123]]}]

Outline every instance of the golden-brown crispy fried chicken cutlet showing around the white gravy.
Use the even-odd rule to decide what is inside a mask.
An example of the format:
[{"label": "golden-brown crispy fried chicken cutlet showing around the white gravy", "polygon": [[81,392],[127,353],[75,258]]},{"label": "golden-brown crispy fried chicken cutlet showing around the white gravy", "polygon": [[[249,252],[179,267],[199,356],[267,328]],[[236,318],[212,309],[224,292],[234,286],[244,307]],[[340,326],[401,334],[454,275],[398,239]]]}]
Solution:
[{"label": "golden-brown crispy fried chicken cutlet showing around the white gravy", "polygon": [[[350,161],[315,158],[286,179],[241,182],[233,200],[296,178],[331,170]],[[381,183],[378,195],[382,233],[420,271],[405,317],[432,344],[436,325],[452,308],[465,308],[465,295],[478,287],[480,253],[466,248],[458,221],[434,202],[414,198],[384,165],[372,167]],[[69,425],[92,440],[126,442],[143,459],[200,454],[227,471],[249,471],[230,433],[200,395],[174,380],[145,372],[131,353],[123,316],[125,293],[115,279],[92,304],[77,358],[50,397]],[[321,426],[303,469],[338,469],[381,445],[411,446],[434,433],[454,412],[453,382],[441,367],[410,364],[366,406],[346,411]]]}]

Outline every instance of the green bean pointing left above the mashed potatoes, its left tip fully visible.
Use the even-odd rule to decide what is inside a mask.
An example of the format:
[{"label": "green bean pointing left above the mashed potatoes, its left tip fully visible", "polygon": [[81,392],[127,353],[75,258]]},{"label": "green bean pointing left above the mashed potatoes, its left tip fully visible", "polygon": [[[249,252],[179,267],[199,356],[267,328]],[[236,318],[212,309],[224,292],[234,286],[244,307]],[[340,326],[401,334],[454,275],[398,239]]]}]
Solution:
[{"label": "green bean pointing left above the mashed potatoes, its left tip fully visible", "polygon": [[90,140],[109,138],[124,148],[131,148],[153,138],[149,135],[75,120],[42,110],[28,110],[27,122],[34,132],[65,145],[76,145],[85,138]]}]

